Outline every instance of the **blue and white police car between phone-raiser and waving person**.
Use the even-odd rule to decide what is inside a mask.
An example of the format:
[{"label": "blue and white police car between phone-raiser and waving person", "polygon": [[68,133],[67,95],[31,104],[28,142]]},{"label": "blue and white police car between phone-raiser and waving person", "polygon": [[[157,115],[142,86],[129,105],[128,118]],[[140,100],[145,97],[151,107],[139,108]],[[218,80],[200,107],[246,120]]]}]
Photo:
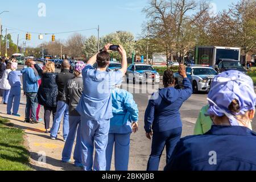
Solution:
[{"label": "blue and white police car between phone-raiser and waving person", "polygon": [[160,82],[160,75],[150,64],[131,64],[126,72],[127,83],[133,81],[133,84],[139,82],[144,83],[158,83]]}]

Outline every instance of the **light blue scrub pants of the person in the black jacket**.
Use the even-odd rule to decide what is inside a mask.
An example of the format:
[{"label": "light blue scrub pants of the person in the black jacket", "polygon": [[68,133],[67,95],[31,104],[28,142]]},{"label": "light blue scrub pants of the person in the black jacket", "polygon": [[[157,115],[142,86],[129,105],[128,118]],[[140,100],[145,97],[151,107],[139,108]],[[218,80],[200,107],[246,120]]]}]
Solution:
[{"label": "light blue scrub pants of the person in the black jacket", "polygon": [[51,128],[51,137],[57,138],[58,131],[60,129],[60,122],[63,118],[63,138],[68,138],[68,131],[69,131],[69,121],[68,121],[68,105],[63,101],[58,101],[57,103],[57,111],[55,118],[53,120],[53,125]]}]

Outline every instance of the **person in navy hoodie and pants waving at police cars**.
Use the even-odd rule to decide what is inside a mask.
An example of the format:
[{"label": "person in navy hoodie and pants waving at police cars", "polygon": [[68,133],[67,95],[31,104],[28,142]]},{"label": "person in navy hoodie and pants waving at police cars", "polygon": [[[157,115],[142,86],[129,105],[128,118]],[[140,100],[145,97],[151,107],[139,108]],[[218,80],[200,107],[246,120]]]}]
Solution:
[{"label": "person in navy hoodie and pants waving at police cars", "polygon": [[179,67],[179,73],[184,78],[184,89],[175,89],[174,72],[165,71],[163,76],[164,88],[152,95],[145,112],[146,137],[151,139],[153,136],[147,171],[158,171],[164,147],[166,147],[166,163],[168,163],[176,143],[181,137],[182,122],[179,110],[191,96],[193,90],[183,64]]}]

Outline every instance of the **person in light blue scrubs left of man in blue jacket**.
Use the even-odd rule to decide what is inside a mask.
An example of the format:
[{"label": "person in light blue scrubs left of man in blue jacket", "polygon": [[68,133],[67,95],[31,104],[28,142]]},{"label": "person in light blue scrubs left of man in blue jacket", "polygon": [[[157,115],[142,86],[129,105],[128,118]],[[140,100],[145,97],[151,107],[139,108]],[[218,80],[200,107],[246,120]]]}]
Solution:
[{"label": "person in light blue scrubs left of man in blue jacket", "polygon": [[[7,102],[7,114],[15,115],[20,117],[18,114],[19,104],[20,104],[20,92],[21,92],[21,81],[20,76],[22,73],[20,71],[16,71],[18,68],[18,63],[11,63],[11,72],[9,73],[7,80],[11,85],[11,90]],[[11,113],[11,109],[13,108],[13,113]]]}]

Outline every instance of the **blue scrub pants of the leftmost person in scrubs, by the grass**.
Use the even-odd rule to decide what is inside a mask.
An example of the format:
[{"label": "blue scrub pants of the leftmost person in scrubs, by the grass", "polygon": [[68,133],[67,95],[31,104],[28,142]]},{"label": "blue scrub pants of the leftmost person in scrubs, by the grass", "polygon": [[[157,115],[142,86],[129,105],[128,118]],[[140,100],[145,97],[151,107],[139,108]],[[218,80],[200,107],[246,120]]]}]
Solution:
[{"label": "blue scrub pants of the leftmost person in scrubs, by the grass", "polygon": [[[7,114],[18,114],[20,103],[20,86],[11,87],[8,102],[7,102]],[[11,108],[13,107],[13,113]]]}]

